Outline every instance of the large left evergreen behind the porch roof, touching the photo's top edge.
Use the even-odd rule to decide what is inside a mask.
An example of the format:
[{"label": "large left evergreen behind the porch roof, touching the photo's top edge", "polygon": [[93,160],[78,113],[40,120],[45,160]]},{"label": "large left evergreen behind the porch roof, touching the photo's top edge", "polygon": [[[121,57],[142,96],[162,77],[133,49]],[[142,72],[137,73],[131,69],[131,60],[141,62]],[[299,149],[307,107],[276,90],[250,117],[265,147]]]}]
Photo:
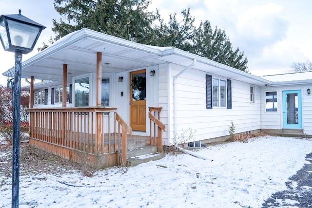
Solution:
[{"label": "large left evergreen behind the porch roof, touching the photo's top edge", "polygon": [[55,0],[54,7],[62,17],[53,19],[58,40],[65,35],[88,28],[135,42],[147,42],[156,18],[147,11],[150,0]]}]

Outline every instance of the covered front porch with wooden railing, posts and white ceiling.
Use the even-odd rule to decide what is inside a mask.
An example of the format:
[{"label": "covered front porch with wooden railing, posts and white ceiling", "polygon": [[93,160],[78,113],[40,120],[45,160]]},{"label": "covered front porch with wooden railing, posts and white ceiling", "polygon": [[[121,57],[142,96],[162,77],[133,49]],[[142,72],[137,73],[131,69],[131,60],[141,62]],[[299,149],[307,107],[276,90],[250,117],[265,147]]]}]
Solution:
[{"label": "covered front porch with wooden railing, posts and white ceiling", "polygon": [[[166,62],[158,57],[155,47],[82,29],[24,61],[30,143],[70,160],[77,160],[78,151],[100,153],[107,157],[104,166],[126,164],[129,147],[162,151],[157,70]],[[146,75],[146,95],[139,100],[144,104],[136,108],[131,73]],[[48,81],[34,84],[35,79]],[[144,128],[136,129],[137,121]],[[138,138],[142,141],[130,146]]]}]

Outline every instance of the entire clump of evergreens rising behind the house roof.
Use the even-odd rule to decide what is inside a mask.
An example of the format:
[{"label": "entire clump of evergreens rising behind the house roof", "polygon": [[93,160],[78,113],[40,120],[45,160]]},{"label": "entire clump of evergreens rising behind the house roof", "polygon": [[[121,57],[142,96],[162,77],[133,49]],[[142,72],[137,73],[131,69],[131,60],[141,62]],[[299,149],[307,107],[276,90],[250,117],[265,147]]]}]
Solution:
[{"label": "entire clump of evergreens rising behind the house roof", "polygon": [[[247,72],[247,58],[239,48],[233,50],[230,39],[208,20],[198,28],[190,8],[170,14],[164,23],[158,11],[148,12],[151,0],[55,0],[54,7],[61,19],[53,19],[54,40],[82,28],[88,28],[118,38],[155,46],[173,46]],[[49,40],[53,43],[53,39]],[[48,47],[43,43],[42,48]]]}]

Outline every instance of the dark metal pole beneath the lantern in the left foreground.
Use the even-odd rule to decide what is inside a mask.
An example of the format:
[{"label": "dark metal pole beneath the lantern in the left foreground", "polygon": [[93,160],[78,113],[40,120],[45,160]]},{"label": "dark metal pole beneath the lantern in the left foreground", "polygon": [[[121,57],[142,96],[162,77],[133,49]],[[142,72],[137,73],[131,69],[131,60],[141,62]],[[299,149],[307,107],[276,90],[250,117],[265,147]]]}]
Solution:
[{"label": "dark metal pole beneath the lantern in the left foreground", "polygon": [[22,52],[15,51],[13,90],[12,208],[19,207],[20,189],[20,82]]}]

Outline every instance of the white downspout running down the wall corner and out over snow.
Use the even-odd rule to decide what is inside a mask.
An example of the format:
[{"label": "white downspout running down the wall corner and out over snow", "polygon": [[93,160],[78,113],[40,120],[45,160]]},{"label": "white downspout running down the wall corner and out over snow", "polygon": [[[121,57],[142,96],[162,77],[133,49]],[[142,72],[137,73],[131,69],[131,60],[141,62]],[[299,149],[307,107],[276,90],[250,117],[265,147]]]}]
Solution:
[{"label": "white downspout running down the wall corner and out over snow", "polygon": [[[198,158],[201,158],[201,159],[204,159],[204,160],[210,160],[204,156],[201,156],[201,155],[198,155],[196,154],[195,152],[193,151],[188,151],[188,150],[185,150],[179,146],[177,146],[176,144],[176,79],[181,76],[182,74],[184,74],[184,72],[186,72],[187,70],[189,70],[190,68],[192,68],[193,66],[195,66],[196,64],[196,59],[194,58],[193,59],[193,63],[191,65],[189,65],[188,67],[186,67],[184,70],[182,70],[181,72],[179,72],[175,77],[174,77],[174,145],[175,147],[180,150],[180,151],[183,151],[185,153],[188,153],[188,154],[191,154],[195,157],[198,157]],[[213,161],[213,160],[211,160]]]}]

